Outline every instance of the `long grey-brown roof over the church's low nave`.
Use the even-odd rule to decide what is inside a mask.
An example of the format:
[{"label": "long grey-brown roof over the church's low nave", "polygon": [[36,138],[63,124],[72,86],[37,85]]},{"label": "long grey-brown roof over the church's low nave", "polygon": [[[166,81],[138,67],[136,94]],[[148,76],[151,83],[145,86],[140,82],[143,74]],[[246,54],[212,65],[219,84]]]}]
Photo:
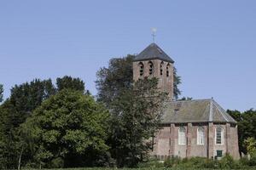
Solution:
[{"label": "long grey-brown roof over the church's low nave", "polygon": [[213,99],[166,102],[162,123],[236,121]]}]

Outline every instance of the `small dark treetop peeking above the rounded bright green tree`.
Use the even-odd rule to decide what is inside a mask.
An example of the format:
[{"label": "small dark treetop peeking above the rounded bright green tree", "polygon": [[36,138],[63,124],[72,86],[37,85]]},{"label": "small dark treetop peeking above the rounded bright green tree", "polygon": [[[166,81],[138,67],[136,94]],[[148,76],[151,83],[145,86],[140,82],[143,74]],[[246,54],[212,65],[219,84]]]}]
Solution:
[{"label": "small dark treetop peeking above the rounded bright green tree", "polygon": [[79,78],[62,77],[56,79],[57,89],[61,91],[64,88],[70,88],[73,90],[79,90],[84,92],[84,82]]}]

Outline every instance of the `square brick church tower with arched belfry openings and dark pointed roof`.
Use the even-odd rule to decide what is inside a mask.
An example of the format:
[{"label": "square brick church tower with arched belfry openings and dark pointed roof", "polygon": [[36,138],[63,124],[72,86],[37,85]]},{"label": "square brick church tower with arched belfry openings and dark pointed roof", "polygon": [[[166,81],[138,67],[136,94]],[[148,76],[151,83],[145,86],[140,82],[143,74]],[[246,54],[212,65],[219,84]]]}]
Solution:
[{"label": "square brick church tower with arched belfry openings and dark pointed roof", "polygon": [[174,61],[155,43],[151,43],[133,60],[133,80],[157,77],[158,88],[173,99]]}]

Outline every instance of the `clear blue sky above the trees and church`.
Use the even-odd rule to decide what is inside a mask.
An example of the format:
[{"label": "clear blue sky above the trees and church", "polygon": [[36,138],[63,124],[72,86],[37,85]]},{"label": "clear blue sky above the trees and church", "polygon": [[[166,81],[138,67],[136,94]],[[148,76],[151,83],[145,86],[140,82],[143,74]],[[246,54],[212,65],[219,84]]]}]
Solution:
[{"label": "clear blue sky above the trees and church", "polygon": [[[155,42],[175,60],[182,96],[256,108],[255,0],[0,0],[4,98],[34,78],[79,77]],[[181,97],[182,97],[181,96]]]}]

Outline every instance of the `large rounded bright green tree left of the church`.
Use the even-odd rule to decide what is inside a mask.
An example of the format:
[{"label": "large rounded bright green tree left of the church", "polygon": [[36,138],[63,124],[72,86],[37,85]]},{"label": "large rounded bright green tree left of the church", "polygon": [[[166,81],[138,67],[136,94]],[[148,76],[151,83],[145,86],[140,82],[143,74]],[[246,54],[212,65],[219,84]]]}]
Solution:
[{"label": "large rounded bright green tree left of the church", "polygon": [[107,120],[108,111],[89,95],[61,90],[45,100],[25,123],[38,144],[35,160],[44,167],[97,165],[108,150]]}]

